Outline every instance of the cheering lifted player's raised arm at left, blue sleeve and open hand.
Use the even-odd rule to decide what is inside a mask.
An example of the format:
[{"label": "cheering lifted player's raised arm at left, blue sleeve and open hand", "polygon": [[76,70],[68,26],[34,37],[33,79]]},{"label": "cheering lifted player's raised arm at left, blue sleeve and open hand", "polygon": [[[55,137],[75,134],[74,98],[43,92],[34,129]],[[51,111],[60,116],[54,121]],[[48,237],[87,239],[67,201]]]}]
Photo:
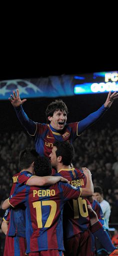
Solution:
[{"label": "cheering lifted player's raised arm at left, blue sleeve and open hand", "polygon": [[17,118],[19,119],[21,125],[26,129],[26,131],[34,136],[36,132],[36,123],[30,120],[25,112],[23,111],[22,104],[26,101],[26,99],[21,100],[19,97],[19,90],[16,89],[16,94],[13,91],[13,95],[10,95],[8,100],[11,102],[14,110],[16,112]]}]

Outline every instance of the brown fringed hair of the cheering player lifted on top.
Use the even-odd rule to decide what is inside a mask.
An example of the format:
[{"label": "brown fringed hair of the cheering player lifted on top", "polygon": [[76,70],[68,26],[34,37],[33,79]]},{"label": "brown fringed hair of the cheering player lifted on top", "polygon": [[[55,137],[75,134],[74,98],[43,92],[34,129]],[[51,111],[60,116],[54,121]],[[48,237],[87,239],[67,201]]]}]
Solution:
[{"label": "brown fringed hair of the cheering player lifted on top", "polygon": [[45,116],[46,116],[47,123],[50,123],[50,121],[48,120],[48,116],[53,116],[53,113],[58,110],[65,111],[66,114],[68,113],[68,109],[67,109],[65,103],[61,99],[52,101],[47,106],[47,108],[45,110]]}]

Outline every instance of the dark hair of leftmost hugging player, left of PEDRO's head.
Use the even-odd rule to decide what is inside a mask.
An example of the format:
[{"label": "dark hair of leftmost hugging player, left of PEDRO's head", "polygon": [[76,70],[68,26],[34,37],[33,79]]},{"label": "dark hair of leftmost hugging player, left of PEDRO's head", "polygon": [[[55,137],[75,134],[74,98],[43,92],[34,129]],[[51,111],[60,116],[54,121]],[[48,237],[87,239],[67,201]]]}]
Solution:
[{"label": "dark hair of leftmost hugging player, left of PEDRO's head", "polygon": [[25,148],[24,150],[20,151],[19,153],[19,166],[20,169],[27,169],[33,163],[38,154],[33,148]]}]

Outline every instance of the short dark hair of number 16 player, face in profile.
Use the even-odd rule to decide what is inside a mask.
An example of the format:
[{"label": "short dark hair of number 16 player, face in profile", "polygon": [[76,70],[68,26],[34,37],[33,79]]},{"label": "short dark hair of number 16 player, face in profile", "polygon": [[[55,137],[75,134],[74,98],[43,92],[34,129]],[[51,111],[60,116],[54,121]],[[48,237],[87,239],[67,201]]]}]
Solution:
[{"label": "short dark hair of number 16 player, face in profile", "polygon": [[56,157],[62,157],[62,163],[69,165],[74,155],[74,148],[68,141],[55,141],[53,146],[57,148],[55,151]]}]

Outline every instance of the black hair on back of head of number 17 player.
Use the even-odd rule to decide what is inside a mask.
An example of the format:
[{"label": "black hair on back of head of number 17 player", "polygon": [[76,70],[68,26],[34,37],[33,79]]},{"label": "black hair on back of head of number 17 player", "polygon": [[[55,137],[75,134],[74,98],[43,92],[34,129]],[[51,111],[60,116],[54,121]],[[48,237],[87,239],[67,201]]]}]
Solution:
[{"label": "black hair on back of head of number 17 player", "polygon": [[46,156],[38,156],[33,164],[34,173],[36,176],[49,176],[51,175],[51,163]]}]

